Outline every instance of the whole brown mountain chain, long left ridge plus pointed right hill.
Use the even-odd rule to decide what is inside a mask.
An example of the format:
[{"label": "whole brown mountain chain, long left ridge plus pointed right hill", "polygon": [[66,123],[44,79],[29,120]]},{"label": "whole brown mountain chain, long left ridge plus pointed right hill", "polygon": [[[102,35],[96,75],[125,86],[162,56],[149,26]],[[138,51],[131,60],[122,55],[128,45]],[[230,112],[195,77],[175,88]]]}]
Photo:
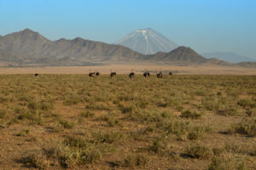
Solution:
[{"label": "whole brown mountain chain, long left ridge plus pointed right hill", "polygon": [[[94,42],[80,37],[50,41],[29,29],[0,37],[0,66],[98,65],[115,61],[232,65],[219,59],[205,59],[186,47],[175,48],[168,53],[145,55],[121,45]],[[246,63],[242,66],[250,65],[253,64]]]}]

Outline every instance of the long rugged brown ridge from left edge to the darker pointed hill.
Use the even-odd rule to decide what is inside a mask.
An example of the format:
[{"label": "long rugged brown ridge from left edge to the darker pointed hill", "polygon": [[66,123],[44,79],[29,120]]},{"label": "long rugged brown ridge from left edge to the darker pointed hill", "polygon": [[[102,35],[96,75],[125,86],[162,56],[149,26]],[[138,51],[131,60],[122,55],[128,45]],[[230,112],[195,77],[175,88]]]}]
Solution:
[{"label": "long rugged brown ridge from left edge to the darker pointed hill", "polygon": [[0,49],[22,56],[23,64],[88,65],[90,62],[137,61],[143,54],[119,45],[94,42],[77,37],[49,41],[38,32],[26,29],[0,38]]}]

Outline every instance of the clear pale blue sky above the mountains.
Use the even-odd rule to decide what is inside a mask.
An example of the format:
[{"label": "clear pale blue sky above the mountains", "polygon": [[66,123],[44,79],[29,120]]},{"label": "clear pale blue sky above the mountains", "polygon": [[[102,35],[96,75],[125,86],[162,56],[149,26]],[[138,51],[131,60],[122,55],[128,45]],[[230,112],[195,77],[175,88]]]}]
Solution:
[{"label": "clear pale blue sky above the mountains", "polygon": [[111,43],[148,27],[198,53],[256,59],[256,0],[0,0],[2,36],[30,28]]}]

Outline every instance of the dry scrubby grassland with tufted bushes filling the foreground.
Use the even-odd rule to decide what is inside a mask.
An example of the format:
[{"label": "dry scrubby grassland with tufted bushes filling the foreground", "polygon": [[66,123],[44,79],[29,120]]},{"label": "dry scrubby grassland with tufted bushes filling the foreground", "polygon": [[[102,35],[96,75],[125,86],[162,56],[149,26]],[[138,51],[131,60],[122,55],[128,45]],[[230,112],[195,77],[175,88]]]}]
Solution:
[{"label": "dry scrubby grassland with tufted bushes filling the foreground", "polygon": [[[133,68],[139,72],[138,65]],[[88,71],[55,69],[37,71]],[[0,75],[0,169],[256,167],[255,76],[129,79],[5,71],[10,75]]]}]

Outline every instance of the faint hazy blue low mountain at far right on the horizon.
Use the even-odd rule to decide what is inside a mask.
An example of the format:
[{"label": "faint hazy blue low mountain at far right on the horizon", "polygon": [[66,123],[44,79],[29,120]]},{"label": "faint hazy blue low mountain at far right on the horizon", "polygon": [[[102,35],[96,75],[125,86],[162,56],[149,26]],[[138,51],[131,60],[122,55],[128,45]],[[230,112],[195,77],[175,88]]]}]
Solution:
[{"label": "faint hazy blue low mountain at far right on the horizon", "polygon": [[232,52],[214,52],[214,53],[205,53],[201,54],[202,56],[206,57],[207,59],[216,58],[222,59],[230,63],[238,63],[238,62],[255,62],[256,59],[250,59],[246,56],[242,56],[239,54],[235,54]]}]

